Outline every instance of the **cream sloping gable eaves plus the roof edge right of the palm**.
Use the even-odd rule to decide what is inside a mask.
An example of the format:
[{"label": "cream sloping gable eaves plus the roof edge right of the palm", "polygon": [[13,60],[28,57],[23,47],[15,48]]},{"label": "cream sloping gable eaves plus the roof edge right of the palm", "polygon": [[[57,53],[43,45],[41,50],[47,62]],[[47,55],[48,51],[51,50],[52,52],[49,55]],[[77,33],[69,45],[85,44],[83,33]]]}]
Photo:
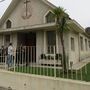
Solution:
[{"label": "cream sloping gable eaves plus the roof edge right of the palm", "polygon": [[[0,19],[0,26],[5,22],[5,20],[8,18],[8,16],[12,13],[12,11],[14,10],[14,8],[19,4],[21,0],[12,0],[12,2],[10,3],[9,7],[7,8],[7,10],[5,11],[4,15],[1,17]],[[46,5],[48,5],[49,7],[51,7],[52,9],[56,8],[55,5],[53,5],[52,3],[50,3],[48,0],[41,0],[43,3],[45,3]],[[77,27],[78,29],[75,29],[75,31],[77,32],[82,32],[85,33],[85,30],[83,27],[81,27],[81,25],[79,25],[75,20],[70,20],[71,22],[71,26]]]}]

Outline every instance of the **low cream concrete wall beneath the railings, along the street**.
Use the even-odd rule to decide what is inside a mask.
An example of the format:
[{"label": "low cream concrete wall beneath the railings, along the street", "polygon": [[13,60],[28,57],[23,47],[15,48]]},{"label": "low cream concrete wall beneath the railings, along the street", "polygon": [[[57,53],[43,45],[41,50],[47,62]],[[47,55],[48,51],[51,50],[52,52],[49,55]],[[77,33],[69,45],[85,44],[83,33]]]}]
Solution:
[{"label": "low cream concrete wall beneath the railings, along the street", "polygon": [[0,86],[13,90],[90,90],[90,83],[0,70]]}]

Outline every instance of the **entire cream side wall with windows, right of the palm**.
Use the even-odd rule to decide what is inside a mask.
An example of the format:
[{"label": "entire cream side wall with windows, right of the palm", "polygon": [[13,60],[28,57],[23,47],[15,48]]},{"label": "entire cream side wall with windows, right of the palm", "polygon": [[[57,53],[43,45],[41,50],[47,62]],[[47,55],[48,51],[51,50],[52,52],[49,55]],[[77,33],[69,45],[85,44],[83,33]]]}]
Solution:
[{"label": "entire cream side wall with windows, right of the palm", "polygon": [[[68,41],[68,38],[66,39],[69,42],[69,61],[73,61],[73,63],[75,64],[75,63],[78,63],[80,60],[85,60],[86,58],[90,58],[90,48],[88,44],[89,38],[84,34],[81,34],[81,33],[79,34],[72,31],[69,32],[68,36],[69,36],[69,41]],[[83,51],[80,48],[81,47],[80,36],[83,37],[83,48],[84,48]],[[71,50],[71,37],[74,38],[75,51]],[[87,39],[87,50],[85,45],[85,39]]]}]

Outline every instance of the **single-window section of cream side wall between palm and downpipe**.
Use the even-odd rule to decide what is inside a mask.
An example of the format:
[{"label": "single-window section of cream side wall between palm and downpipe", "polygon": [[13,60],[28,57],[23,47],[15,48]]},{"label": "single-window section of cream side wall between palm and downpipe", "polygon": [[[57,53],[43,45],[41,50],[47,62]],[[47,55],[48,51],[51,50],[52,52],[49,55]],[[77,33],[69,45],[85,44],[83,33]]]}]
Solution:
[{"label": "single-window section of cream side wall between palm and downpipe", "polygon": [[[74,38],[75,50],[71,50],[71,37]],[[69,32],[69,61],[72,61],[73,64],[79,62],[79,35],[75,32]]]}]

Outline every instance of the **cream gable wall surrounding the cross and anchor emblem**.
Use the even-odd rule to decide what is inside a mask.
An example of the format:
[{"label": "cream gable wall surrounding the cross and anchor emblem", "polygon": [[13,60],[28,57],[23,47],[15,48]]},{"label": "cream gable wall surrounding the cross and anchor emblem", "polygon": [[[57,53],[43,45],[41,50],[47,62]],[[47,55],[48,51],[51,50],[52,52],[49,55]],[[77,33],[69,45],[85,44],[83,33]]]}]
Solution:
[{"label": "cream gable wall surrounding the cross and anchor emblem", "polygon": [[[43,24],[44,23],[44,15],[48,10],[51,8],[43,3],[41,0],[31,0],[32,16],[29,19],[23,19],[22,15],[24,12],[24,3],[23,0],[15,7],[13,12],[7,18],[11,20],[12,27],[20,27],[20,26],[28,26],[28,25],[36,25],[36,24]],[[6,21],[7,21],[6,20]],[[2,28],[6,28],[6,22],[2,26]]]}]

